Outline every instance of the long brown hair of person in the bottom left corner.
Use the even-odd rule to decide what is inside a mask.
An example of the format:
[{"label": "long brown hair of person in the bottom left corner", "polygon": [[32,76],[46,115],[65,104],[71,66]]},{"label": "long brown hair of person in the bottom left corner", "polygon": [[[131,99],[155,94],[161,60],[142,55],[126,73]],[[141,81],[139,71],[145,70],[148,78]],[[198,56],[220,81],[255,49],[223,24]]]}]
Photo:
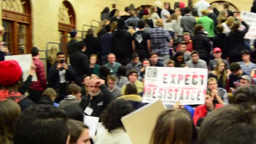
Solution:
[{"label": "long brown hair of person in the bottom left corner", "polygon": [[0,101],[0,143],[10,144],[13,139],[14,124],[21,109],[14,100]]}]

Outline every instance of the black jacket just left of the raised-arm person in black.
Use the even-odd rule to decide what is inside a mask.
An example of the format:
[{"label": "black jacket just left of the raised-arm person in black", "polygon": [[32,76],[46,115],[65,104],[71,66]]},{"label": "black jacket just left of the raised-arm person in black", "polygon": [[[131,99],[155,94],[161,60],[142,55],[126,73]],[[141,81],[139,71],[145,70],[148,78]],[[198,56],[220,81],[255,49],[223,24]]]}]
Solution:
[{"label": "black jacket just left of the raised-arm person in black", "polygon": [[227,59],[228,49],[227,49],[227,36],[225,33],[218,33],[213,38],[213,48],[220,47],[221,49],[221,58]]}]

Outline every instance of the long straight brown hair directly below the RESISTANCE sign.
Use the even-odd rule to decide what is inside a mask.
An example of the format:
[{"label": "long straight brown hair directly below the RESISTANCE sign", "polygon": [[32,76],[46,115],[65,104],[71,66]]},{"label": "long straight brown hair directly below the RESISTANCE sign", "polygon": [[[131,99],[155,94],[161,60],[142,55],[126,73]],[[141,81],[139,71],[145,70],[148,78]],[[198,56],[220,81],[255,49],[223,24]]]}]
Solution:
[{"label": "long straight brown hair directly below the RESISTANCE sign", "polygon": [[183,109],[166,109],[157,118],[150,144],[190,144],[192,135],[193,122],[189,113]]}]

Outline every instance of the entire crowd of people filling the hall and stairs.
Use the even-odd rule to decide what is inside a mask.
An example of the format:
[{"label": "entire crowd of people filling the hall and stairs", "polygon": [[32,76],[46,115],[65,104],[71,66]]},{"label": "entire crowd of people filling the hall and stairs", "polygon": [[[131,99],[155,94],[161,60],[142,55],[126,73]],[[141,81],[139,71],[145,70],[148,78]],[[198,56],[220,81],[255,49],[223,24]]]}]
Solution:
[{"label": "entire crowd of people filling the hall and stairs", "polygon": [[[46,69],[32,47],[27,79],[17,61],[4,60],[10,53],[1,41],[0,144],[132,143],[121,118],[148,104],[142,102],[147,67],[209,70],[204,105],[167,105],[150,144],[255,143],[249,26],[229,3],[223,6],[218,11],[201,0],[172,10],[166,2],[137,11],[131,4],[122,12],[113,4],[101,12],[97,37],[89,29],[78,42],[70,31],[68,53],[51,47]],[[90,137],[84,116],[99,117],[104,130]]]}]

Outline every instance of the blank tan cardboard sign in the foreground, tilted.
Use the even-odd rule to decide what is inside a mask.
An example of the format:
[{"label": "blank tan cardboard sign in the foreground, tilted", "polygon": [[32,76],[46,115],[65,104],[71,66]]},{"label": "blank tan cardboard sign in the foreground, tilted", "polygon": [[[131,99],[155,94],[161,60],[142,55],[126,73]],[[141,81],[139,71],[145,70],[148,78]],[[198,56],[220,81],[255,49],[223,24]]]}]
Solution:
[{"label": "blank tan cardboard sign in the foreground, tilted", "polygon": [[166,109],[161,100],[150,103],[122,117],[133,144],[148,144],[158,116]]}]

